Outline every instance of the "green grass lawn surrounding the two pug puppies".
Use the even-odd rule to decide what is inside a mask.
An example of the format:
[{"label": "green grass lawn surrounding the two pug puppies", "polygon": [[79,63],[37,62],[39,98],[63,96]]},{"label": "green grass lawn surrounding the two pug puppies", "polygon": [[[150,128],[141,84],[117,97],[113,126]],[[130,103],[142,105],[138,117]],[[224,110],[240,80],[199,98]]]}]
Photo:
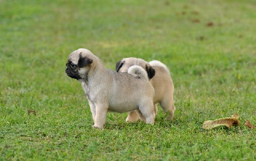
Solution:
[{"label": "green grass lawn surrounding the two pug puppies", "polygon": [[[0,160],[255,160],[256,3],[0,1]],[[175,120],[154,126],[108,113],[93,129],[68,54],[88,48],[106,67],[160,60],[175,83]],[[28,114],[28,110],[35,110]],[[241,125],[204,130],[240,115]]]}]

